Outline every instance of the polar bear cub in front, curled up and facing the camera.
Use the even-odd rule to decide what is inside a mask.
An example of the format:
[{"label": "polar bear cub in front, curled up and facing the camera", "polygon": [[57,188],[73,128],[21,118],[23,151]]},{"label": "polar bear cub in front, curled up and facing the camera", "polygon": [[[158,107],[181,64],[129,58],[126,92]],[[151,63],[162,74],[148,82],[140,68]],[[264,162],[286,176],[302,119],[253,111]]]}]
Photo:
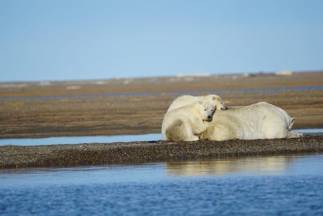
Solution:
[{"label": "polar bear cub in front, curled up and facing the camera", "polygon": [[214,106],[213,101],[198,100],[167,112],[161,125],[164,140],[198,140],[197,134],[206,130],[204,121],[212,119]]}]

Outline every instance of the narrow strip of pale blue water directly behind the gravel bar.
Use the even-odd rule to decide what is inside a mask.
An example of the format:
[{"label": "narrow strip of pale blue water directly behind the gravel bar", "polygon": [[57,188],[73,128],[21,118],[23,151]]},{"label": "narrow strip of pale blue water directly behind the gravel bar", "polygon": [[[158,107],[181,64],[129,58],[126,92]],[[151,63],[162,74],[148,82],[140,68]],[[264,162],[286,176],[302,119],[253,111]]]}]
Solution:
[{"label": "narrow strip of pale blue water directly behind the gravel bar", "polygon": [[[323,132],[318,129],[294,130],[299,133]],[[140,135],[116,135],[116,136],[75,136],[75,137],[48,137],[48,138],[20,138],[20,139],[0,139],[1,145],[52,145],[52,144],[80,144],[80,143],[111,143],[111,142],[131,142],[131,141],[151,141],[161,140],[161,134],[140,134]]]}]

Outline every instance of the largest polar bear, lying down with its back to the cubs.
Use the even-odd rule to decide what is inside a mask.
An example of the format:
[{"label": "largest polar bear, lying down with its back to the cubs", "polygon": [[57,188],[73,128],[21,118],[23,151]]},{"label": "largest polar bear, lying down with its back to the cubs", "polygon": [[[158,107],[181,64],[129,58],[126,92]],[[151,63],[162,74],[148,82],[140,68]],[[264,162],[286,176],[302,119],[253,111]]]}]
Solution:
[{"label": "largest polar bear, lying down with its back to the cubs", "polygon": [[249,106],[232,106],[225,112],[213,115],[207,130],[200,134],[201,139],[274,139],[301,137],[291,131],[295,118],[284,110],[267,102]]}]

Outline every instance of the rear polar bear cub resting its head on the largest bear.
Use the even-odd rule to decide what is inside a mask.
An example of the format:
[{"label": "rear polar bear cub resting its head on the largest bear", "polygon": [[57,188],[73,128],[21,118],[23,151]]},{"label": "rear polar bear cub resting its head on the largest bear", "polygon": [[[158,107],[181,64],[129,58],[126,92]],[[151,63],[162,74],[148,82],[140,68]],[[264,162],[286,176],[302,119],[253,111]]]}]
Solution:
[{"label": "rear polar bear cub resting its head on the largest bear", "polygon": [[192,95],[182,95],[177,97],[168,108],[167,112],[171,110],[175,110],[181,106],[197,102],[199,100],[211,100],[214,101],[214,104],[216,106],[216,110],[227,110],[227,106],[224,103],[224,101],[221,99],[219,95],[216,94],[209,94],[206,96],[192,96]]}]

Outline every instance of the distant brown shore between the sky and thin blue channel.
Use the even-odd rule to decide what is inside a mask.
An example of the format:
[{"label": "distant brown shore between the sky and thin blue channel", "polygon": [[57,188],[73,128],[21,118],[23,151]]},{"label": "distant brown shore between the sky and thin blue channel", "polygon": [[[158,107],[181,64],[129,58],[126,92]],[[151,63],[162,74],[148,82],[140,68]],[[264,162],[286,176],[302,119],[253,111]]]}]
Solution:
[{"label": "distant brown shore between the sky and thin blue channel", "polygon": [[[102,80],[0,82],[0,99],[11,96],[59,96],[69,94],[122,94],[187,90],[230,90],[322,86],[323,71],[240,73],[209,76],[115,78]],[[189,86],[190,87],[189,87]]]}]

